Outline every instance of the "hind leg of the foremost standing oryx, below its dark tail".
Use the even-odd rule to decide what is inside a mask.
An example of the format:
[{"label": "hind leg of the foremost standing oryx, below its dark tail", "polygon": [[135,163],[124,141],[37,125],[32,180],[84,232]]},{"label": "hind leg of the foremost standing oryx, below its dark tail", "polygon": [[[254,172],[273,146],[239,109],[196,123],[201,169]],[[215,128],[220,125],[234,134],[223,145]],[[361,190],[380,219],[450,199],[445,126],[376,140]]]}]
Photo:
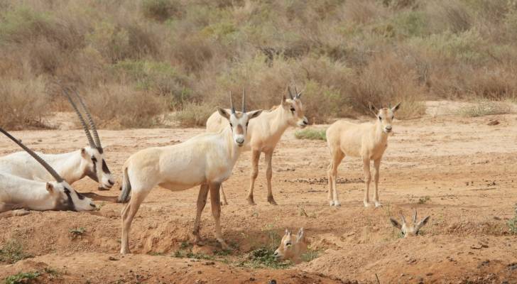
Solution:
[{"label": "hind leg of the foremost standing oryx, below its dark tail", "polygon": [[140,204],[142,204],[143,200],[149,194],[151,190],[139,190],[137,187],[134,187],[131,190],[131,200],[124,205],[122,208],[121,217],[122,217],[122,237],[121,237],[121,254],[130,253],[129,251],[129,231],[131,231],[131,222],[133,222],[133,218],[138,212],[138,208],[140,208]]}]

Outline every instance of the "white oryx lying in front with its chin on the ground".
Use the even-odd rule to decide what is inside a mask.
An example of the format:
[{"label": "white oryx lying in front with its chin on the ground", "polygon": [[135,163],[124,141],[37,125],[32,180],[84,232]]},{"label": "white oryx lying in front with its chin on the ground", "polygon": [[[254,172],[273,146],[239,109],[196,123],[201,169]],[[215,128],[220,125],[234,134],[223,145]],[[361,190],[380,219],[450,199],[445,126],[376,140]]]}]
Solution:
[{"label": "white oryx lying in front with its chin on the ground", "polygon": [[4,129],[0,129],[0,132],[23,148],[37,163],[43,165],[43,170],[47,170],[55,178],[55,182],[38,182],[0,172],[0,217],[24,215],[28,213],[26,210],[91,211],[96,209],[92,200],[70,187],[36,153]]}]

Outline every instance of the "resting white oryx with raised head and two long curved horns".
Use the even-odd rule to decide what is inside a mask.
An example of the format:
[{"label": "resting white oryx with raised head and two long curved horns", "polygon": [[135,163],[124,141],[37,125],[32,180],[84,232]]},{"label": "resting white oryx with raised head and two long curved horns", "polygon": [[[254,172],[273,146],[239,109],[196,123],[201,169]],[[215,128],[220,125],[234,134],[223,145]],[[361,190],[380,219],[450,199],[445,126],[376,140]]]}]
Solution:
[{"label": "resting white oryx with raised head and two long curved horns", "polygon": [[[82,108],[85,110],[89,125],[92,128],[93,138],[89,133],[88,126],[83,119],[79,109],[70,97],[70,94],[63,88],[70,104],[74,108],[79,120],[81,121],[83,129],[85,129],[86,137],[88,138],[89,147],[81,148],[78,151],[63,153],[63,154],[43,154],[38,153],[45,161],[47,161],[53,168],[69,183],[72,184],[77,180],[88,176],[92,180],[99,182],[99,190],[109,190],[114,185],[114,180],[109,172],[106,160],[104,160],[104,151],[101,146],[97,128],[93,122],[92,116],[81,97],[77,92],[75,96],[79,100]],[[17,175],[20,178],[28,180],[47,181],[52,180],[52,176],[40,167],[36,160],[31,158],[26,152],[12,153],[0,158],[0,172]]]}]

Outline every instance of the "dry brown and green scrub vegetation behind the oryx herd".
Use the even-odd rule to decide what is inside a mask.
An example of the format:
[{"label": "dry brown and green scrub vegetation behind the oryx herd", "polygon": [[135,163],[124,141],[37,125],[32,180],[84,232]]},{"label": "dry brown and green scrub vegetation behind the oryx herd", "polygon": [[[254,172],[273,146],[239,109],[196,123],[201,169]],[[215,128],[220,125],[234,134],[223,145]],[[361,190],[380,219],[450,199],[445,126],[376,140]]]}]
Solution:
[{"label": "dry brown and green scrub vegetation behind the oryx herd", "polygon": [[67,109],[55,79],[109,127],[153,126],[166,111],[199,125],[242,87],[249,109],[305,87],[317,122],[369,101],[401,101],[408,118],[422,99],[513,98],[516,2],[1,1],[0,121],[40,126]]}]

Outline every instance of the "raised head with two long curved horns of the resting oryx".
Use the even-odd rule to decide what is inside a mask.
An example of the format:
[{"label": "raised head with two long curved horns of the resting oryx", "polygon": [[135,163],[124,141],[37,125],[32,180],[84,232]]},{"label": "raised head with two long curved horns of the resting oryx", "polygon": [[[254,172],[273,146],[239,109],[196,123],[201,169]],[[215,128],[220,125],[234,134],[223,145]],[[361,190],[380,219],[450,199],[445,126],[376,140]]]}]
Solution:
[{"label": "raised head with two long curved horns of the resting oryx", "polygon": [[81,104],[82,109],[85,110],[85,114],[89,122],[89,127],[92,129],[93,138],[92,134],[89,133],[85,119],[82,117],[79,109],[77,109],[77,105],[70,96],[70,93],[67,92],[67,89],[65,88],[62,88],[62,90],[66,94],[70,104],[72,104],[73,109],[81,121],[82,128],[85,129],[86,137],[88,138],[89,147],[85,147],[80,150],[82,165],[84,165],[85,168],[85,175],[87,175],[92,180],[99,182],[99,190],[109,190],[115,182],[111,172],[109,171],[106,160],[104,160],[104,150],[101,145],[99,133],[97,133],[97,128],[93,122],[92,115],[89,113],[85,103],[82,102],[82,99],[77,93],[77,90],[74,89],[75,97]]}]

